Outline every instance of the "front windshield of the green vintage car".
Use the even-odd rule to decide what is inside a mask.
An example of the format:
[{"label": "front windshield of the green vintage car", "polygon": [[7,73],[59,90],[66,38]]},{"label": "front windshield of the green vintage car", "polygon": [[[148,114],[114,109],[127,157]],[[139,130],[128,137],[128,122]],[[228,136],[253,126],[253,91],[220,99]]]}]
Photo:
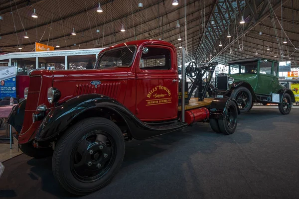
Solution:
[{"label": "front windshield of the green vintage car", "polygon": [[229,74],[257,73],[258,62],[234,63],[229,65]]}]

